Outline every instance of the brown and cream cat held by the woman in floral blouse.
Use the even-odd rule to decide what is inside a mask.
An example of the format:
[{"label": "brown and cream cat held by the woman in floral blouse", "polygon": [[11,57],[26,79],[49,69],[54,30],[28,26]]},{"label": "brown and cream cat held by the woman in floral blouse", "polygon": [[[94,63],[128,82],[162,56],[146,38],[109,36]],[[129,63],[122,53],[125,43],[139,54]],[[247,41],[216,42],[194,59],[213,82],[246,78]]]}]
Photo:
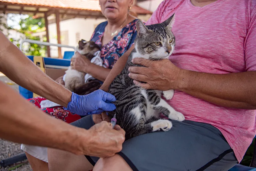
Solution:
[{"label": "brown and cream cat held by the woman in floral blouse", "polygon": [[[76,47],[75,52],[78,52],[81,55],[86,56],[91,61],[91,59],[94,57],[95,52],[97,52],[99,50],[100,50],[100,47],[97,44],[95,44],[93,41],[87,42],[82,39],[78,42],[78,46]],[[74,54],[72,58],[76,58],[76,55]],[[86,92],[87,86],[83,86],[85,84],[85,78],[84,78],[85,74],[86,73],[84,73],[84,72],[80,72],[80,71],[72,69],[72,67],[70,66],[65,74],[65,87],[73,92],[78,91],[78,90],[79,91],[83,90]],[[93,85],[93,84],[91,84],[91,85]],[[89,87],[91,87],[91,86],[89,86]],[[79,93],[79,94],[81,94],[81,93]]]}]

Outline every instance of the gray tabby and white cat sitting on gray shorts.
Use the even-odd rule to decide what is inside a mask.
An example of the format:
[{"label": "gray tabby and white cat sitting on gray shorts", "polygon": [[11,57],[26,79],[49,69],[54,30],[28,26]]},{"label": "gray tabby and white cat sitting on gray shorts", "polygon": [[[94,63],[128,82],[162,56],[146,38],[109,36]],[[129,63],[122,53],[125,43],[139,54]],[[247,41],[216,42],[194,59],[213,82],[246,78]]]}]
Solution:
[{"label": "gray tabby and white cat sitting on gray shorts", "polygon": [[[129,78],[128,68],[135,65],[133,58],[142,57],[145,60],[167,59],[173,52],[175,37],[171,32],[174,15],[160,24],[145,26],[137,21],[137,37],[135,49],[131,52],[126,66],[109,87],[117,101],[116,110],[109,112],[113,117],[116,113],[117,124],[126,131],[126,138],[158,130],[168,131],[172,127],[170,120],[160,118],[160,113],[171,120],[183,121],[182,113],[175,111],[161,98],[162,91],[146,90],[133,83]],[[173,97],[174,91],[163,91],[166,99]]]}]

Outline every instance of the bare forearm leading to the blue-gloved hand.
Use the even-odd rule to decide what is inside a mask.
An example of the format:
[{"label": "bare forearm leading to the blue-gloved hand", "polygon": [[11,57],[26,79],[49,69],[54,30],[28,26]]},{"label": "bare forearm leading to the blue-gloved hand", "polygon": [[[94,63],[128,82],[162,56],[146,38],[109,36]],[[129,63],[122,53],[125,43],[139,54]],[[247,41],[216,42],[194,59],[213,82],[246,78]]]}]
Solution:
[{"label": "bare forearm leading to the blue-gloved hand", "polygon": [[71,92],[56,83],[0,32],[0,71],[20,86],[63,106]]}]

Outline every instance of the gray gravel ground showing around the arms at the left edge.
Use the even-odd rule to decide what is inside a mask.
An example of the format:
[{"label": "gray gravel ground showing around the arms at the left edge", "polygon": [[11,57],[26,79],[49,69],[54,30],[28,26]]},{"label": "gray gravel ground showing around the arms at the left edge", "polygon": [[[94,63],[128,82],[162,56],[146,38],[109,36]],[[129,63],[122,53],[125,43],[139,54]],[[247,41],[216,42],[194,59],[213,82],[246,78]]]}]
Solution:
[{"label": "gray gravel ground showing around the arms at the left edge", "polygon": [[[7,83],[12,83],[12,81],[9,80],[2,73],[0,73],[0,81],[7,82]],[[10,85],[10,86],[12,88],[14,88],[16,91],[19,91],[19,88],[18,88],[17,84],[14,83],[13,85]],[[0,139],[0,160],[18,155],[20,153],[23,153],[23,151],[20,149],[20,144]],[[8,167],[5,167],[5,168],[1,168],[1,166],[0,166],[0,171],[7,171],[10,168],[13,168],[13,167],[15,167],[19,164],[21,164],[21,163],[17,163],[16,165],[8,166]],[[28,163],[27,160],[22,161],[22,164],[23,165],[21,167],[13,169],[13,171],[32,171],[32,169],[30,167],[30,164]]]}]

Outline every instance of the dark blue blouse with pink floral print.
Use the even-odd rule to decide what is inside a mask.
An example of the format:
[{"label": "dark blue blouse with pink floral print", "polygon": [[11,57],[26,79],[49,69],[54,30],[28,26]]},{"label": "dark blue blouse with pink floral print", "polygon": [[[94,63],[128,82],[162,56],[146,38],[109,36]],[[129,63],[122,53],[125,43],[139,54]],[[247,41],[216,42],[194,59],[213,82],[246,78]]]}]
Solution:
[{"label": "dark blue blouse with pink floral print", "polygon": [[103,46],[101,39],[108,22],[102,22],[95,28],[91,41],[94,41],[101,48],[103,67],[111,69],[116,61],[131,47],[137,36],[137,20],[135,19],[127,24],[111,41]]}]

